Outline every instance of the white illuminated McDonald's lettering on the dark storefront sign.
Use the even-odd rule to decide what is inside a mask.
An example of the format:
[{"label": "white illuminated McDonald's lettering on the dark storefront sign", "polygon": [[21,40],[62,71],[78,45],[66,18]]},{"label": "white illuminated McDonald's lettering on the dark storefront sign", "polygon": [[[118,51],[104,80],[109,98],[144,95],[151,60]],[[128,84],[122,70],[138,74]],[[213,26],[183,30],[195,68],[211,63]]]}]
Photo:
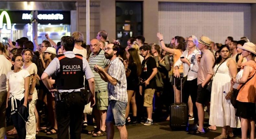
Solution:
[{"label": "white illuminated McDonald's lettering on the dark storefront sign", "polygon": [[[63,14],[39,14],[37,15],[39,20],[63,20]],[[31,19],[31,14],[22,14],[23,20]]]}]

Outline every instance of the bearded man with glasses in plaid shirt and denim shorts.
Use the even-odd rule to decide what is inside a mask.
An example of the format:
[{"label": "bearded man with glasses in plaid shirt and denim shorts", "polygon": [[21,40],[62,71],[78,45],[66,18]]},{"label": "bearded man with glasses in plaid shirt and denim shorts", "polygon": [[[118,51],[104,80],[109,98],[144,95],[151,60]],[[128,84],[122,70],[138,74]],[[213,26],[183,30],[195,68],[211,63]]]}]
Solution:
[{"label": "bearded man with glasses in plaid shirt and denim shorts", "polygon": [[107,138],[114,137],[114,126],[120,132],[121,139],[127,139],[128,133],[125,126],[125,110],[128,102],[127,82],[125,76],[125,68],[119,60],[119,45],[111,43],[104,48],[106,59],[110,59],[108,71],[105,71],[98,65],[95,65],[94,70],[99,73],[100,77],[108,82],[109,106],[107,110],[106,126]]}]

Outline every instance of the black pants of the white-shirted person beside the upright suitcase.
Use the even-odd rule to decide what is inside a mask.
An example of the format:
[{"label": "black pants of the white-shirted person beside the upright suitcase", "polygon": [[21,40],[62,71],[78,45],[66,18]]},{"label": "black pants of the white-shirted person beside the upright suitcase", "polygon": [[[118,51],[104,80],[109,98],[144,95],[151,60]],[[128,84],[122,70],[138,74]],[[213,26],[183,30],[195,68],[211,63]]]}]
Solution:
[{"label": "black pants of the white-shirted person beside the upright suitcase", "polygon": [[194,80],[187,80],[184,84],[182,90],[182,102],[188,103],[189,95],[191,96],[191,100],[193,103],[193,114],[194,114],[194,123],[198,122],[198,113],[196,108],[196,98],[197,98],[197,78]]}]

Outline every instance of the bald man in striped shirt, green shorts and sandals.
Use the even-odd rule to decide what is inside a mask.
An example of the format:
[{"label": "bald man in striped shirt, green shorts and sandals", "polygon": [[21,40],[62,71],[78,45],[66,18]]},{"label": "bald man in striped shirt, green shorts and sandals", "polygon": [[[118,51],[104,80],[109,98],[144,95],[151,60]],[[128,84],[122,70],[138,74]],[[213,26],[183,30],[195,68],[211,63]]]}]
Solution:
[{"label": "bald man in striped shirt, green shorts and sandals", "polygon": [[[105,43],[104,43],[105,44]],[[97,65],[103,69],[109,65],[109,59],[106,59],[104,51],[100,49],[99,40],[92,39],[90,41],[91,54],[89,56],[89,66],[94,74],[95,81],[95,98],[96,105],[93,107],[97,128],[93,131],[89,131],[88,134],[93,134],[94,137],[106,135],[106,110],[108,108],[108,82],[100,78],[99,73],[93,70]]]}]

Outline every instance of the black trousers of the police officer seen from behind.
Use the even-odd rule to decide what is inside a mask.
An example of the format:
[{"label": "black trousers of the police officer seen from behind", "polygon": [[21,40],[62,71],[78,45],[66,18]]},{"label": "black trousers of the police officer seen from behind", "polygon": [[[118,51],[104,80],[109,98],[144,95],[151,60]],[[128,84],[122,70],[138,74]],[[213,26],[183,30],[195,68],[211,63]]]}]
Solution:
[{"label": "black trousers of the police officer seen from behind", "polygon": [[81,128],[85,100],[80,92],[68,93],[64,101],[56,101],[55,112],[58,125],[58,139],[81,139]]}]

